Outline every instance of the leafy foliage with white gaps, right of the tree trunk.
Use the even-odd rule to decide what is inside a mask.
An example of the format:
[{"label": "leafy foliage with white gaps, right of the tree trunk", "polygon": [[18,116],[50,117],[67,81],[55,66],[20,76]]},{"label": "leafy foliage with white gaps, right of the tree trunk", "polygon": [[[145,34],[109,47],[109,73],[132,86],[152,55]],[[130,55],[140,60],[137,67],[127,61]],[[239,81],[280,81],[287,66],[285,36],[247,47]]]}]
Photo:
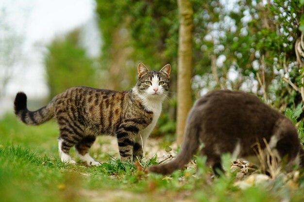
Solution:
[{"label": "leafy foliage with white gaps, right of the tree trunk", "polygon": [[[299,77],[294,43],[302,8],[291,0],[224,2],[195,8],[195,73],[203,76],[194,89],[241,89],[276,99],[280,108],[294,94],[282,76]],[[287,106],[294,107],[291,99]]]}]

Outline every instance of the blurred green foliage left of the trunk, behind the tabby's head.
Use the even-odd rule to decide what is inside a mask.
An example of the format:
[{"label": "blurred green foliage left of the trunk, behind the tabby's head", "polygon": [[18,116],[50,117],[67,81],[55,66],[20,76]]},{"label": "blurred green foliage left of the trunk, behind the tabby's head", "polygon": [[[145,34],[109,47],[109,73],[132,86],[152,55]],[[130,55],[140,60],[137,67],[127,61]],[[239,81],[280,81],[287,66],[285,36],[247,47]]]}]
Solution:
[{"label": "blurred green foliage left of the trunk, behind the tabby's head", "polygon": [[[134,85],[136,65],[144,62],[150,70],[171,64],[170,91],[176,92],[178,11],[174,0],[96,0],[96,13],[103,40],[101,69],[106,83],[116,90]],[[125,51],[123,51],[125,50]],[[118,70],[116,70],[118,69]],[[119,74],[118,74],[119,72]],[[123,82],[121,82],[123,81]],[[112,86],[111,86],[112,87]],[[170,94],[175,99],[175,94]],[[171,99],[169,99],[171,102]],[[170,122],[166,132],[174,134],[175,108],[164,103],[169,111],[164,122]]]}]

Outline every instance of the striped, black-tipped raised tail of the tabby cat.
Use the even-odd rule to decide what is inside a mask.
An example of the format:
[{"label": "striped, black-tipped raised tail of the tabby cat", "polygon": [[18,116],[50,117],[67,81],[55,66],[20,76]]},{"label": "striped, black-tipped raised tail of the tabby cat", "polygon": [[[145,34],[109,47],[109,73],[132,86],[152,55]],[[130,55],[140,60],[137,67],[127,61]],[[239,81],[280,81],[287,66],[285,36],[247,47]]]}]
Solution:
[{"label": "striped, black-tipped raised tail of the tabby cat", "polygon": [[36,111],[29,111],[27,109],[26,100],[26,94],[19,92],[14,101],[15,114],[23,123],[28,125],[39,125],[54,117],[53,101]]}]

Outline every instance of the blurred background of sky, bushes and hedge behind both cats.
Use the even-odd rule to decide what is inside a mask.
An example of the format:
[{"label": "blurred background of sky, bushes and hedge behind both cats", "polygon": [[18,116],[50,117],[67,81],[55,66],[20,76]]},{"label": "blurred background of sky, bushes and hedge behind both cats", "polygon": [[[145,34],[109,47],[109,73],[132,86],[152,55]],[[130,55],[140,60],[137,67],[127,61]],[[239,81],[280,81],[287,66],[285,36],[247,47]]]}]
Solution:
[{"label": "blurred background of sky, bushes and hedge behind both cats", "polygon": [[[303,0],[190,3],[192,100],[231,89],[281,111],[302,107]],[[153,135],[174,135],[178,30],[175,0],[0,0],[0,119],[18,91],[38,109],[72,86],[130,89],[138,62],[170,63],[171,93]]]}]

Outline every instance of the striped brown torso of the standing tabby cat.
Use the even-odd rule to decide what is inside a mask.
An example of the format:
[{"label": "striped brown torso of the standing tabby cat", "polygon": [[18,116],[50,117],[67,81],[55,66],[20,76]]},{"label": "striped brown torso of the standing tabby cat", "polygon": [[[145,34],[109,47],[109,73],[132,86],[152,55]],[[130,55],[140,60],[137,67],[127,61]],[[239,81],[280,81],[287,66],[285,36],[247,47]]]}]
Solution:
[{"label": "striped brown torso of the standing tabby cat", "polygon": [[121,122],[128,95],[129,91],[73,87],[53,99],[55,117],[58,122],[80,125],[91,134],[113,133]]}]

